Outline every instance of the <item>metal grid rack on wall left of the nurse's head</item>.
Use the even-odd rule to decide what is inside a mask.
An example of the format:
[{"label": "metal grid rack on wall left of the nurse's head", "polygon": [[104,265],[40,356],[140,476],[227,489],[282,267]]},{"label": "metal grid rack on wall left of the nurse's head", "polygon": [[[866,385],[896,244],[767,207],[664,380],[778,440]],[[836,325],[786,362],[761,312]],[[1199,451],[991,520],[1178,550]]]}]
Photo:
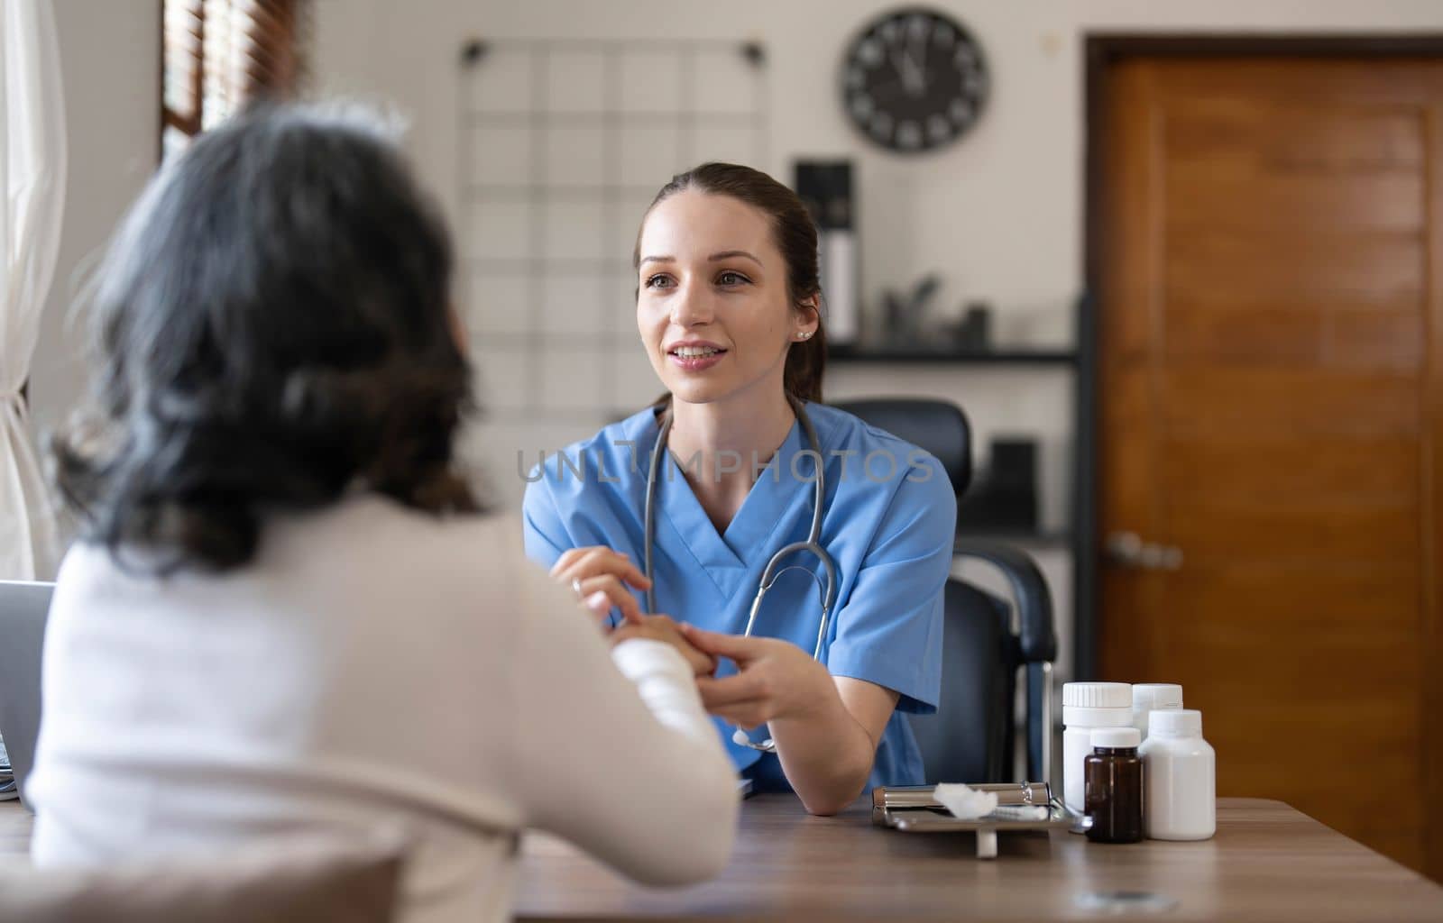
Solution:
[{"label": "metal grid rack on wall left of the nurse's head", "polygon": [[635,322],[641,216],[697,163],[766,169],[765,53],[469,40],[460,58],[457,281],[486,420],[589,427],[636,410],[661,391]]}]

